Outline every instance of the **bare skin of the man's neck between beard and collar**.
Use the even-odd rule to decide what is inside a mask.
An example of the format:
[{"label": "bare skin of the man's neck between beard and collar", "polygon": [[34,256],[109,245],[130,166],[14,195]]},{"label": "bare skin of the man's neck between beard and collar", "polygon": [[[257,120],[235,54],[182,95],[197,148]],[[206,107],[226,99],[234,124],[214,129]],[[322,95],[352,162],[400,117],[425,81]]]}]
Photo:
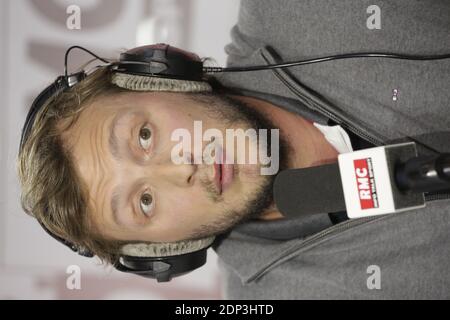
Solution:
[{"label": "bare skin of the man's neck between beard and collar", "polygon": [[[307,168],[337,161],[338,152],[311,121],[267,101],[246,96],[232,97],[256,109],[280,130],[280,137],[284,138],[289,150],[286,155],[288,168]],[[280,218],[283,215],[274,203],[260,217],[263,220]]]}]

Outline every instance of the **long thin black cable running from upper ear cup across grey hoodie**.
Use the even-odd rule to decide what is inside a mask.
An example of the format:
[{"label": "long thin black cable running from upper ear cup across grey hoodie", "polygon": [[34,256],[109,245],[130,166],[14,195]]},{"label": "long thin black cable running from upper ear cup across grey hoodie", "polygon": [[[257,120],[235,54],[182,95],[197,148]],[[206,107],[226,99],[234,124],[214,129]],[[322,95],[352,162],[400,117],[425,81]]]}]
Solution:
[{"label": "long thin black cable running from upper ear cup across grey hoodie", "polygon": [[331,60],[341,60],[341,59],[353,59],[353,58],[389,58],[389,59],[402,59],[402,60],[442,60],[449,59],[450,54],[442,54],[442,55],[408,55],[408,54],[395,54],[395,53],[384,53],[384,52],[367,52],[367,53],[347,53],[347,54],[339,54],[333,56],[326,56],[321,58],[312,58],[307,60],[299,60],[293,62],[285,62],[285,63],[277,63],[277,64],[269,64],[269,65],[261,65],[261,66],[249,66],[249,67],[229,67],[229,68],[221,68],[221,67],[204,67],[203,72],[205,73],[218,73],[218,72],[243,72],[243,71],[257,71],[257,70],[269,70],[276,68],[285,68],[285,67],[293,67],[300,66],[306,64],[320,63]]}]

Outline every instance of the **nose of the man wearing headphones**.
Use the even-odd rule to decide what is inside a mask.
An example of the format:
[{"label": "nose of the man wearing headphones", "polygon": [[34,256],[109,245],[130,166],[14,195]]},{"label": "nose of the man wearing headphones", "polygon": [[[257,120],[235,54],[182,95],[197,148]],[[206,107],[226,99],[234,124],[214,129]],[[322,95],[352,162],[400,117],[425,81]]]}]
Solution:
[{"label": "nose of the man wearing headphones", "polygon": [[176,164],[171,159],[163,163],[157,163],[151,169],[152,175],[157,176],[161,181],[172,186],[188,187],[194,183],[194,175],[198,170],[198,165],[193,163],[192,156],[186,155],[189,162]]}]

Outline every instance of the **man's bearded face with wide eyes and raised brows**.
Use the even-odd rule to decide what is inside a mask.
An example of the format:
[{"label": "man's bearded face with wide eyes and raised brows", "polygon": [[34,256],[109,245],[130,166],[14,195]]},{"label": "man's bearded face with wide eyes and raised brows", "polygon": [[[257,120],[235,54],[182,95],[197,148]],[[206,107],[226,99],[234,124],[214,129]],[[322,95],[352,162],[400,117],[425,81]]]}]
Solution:
[{"label": "man's bearded face with wide eyes and raised brows", "polygon": [[[212,94],[193,98],[165,92],[101,97],[63,133],[88,189],[97,232],[152,242],[205,237],[256,218],[270,205],[274,176],[261,175],[258,163],[226,166],[232,175],[226,187],[215,180],[220,176],[216,171],[225,167],[174,163],[173,149],[180,141],[173,141],[172,134],[184,128],[193,141],[194,121],[201,121],[203,131],[218,129],[224,138],[226,129],[270,127],[237,100]],[[207,145],[203,141],[203,150]],[[184,154],[191,160],[193,148]],[[225,143],[222,148],[226,154]],[[234,157],[248,155],[249,148],[258,146],[255,141],[246,143],[245,150],[235,145]]]}]

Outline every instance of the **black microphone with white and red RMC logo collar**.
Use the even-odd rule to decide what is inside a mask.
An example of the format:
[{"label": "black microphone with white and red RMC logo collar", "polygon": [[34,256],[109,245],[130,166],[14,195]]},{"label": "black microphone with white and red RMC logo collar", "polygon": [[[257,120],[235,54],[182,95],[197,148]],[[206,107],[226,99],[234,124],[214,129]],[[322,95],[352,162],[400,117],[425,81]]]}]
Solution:
[{"label": "black microphone with white and red RMC logo collar", "polygon": [[343,153],[338,162],[281,171],[275,204],[286,217],[347,211],[362,218],[425,207],[424,192],[450,189],[450,155],[417,157],[414,142]]}]

